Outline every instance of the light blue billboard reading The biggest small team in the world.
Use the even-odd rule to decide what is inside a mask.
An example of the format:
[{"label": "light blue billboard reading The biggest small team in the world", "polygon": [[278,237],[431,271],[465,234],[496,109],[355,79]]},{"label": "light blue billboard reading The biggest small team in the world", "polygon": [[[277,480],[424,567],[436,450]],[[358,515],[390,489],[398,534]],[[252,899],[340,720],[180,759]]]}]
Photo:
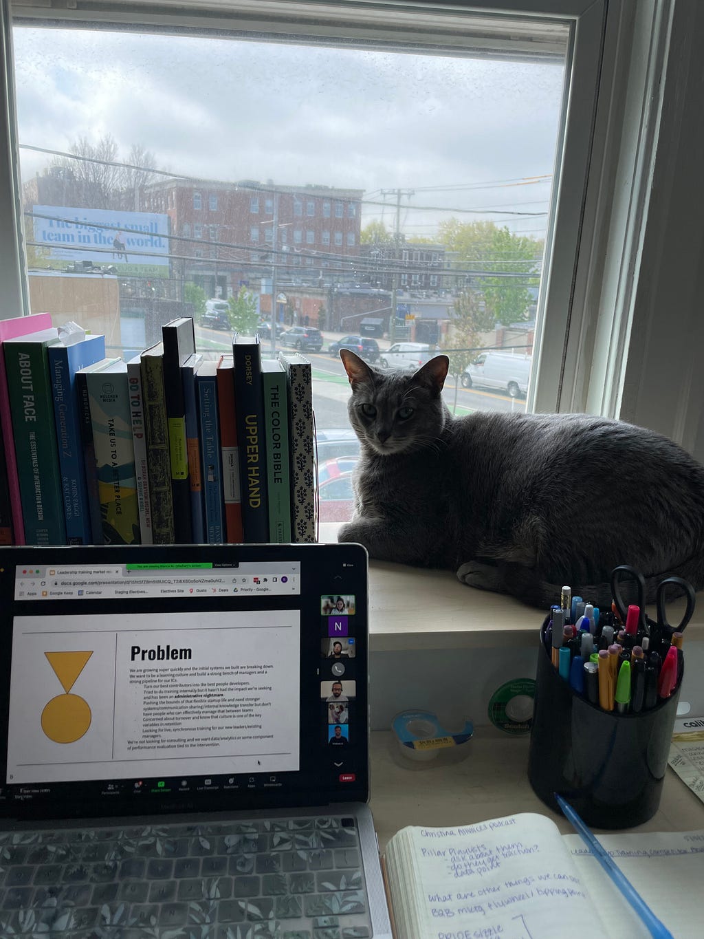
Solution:
[{"label": "light blue billboard reading The biggest small team in the world", "polygon": [[33,206],[34,240],[48,265],[113,266],[118,274],[169,276],[169,217],[110,208]]}]

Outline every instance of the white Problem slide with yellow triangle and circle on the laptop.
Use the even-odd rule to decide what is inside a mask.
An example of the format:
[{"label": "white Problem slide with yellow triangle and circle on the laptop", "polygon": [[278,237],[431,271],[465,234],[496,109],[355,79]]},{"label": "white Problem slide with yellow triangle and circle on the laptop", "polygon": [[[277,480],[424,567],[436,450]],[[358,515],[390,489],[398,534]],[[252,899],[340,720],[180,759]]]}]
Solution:
[{"label": "white Problem slide with yellow triangle and circle on the laptop", "polygon": [[298,770],[298,610],[15,619],[8,782]]}]

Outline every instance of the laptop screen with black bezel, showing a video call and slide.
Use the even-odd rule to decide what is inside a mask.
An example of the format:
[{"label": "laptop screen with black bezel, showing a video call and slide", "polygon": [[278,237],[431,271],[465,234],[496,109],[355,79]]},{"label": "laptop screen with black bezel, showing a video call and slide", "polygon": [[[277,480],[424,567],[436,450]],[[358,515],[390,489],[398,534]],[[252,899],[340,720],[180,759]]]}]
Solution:
[{"label": "laptop screen with black bezel, showing a video call and slide", "polygon": [[0,548],[10,818],[366,801],[355,545]]}]

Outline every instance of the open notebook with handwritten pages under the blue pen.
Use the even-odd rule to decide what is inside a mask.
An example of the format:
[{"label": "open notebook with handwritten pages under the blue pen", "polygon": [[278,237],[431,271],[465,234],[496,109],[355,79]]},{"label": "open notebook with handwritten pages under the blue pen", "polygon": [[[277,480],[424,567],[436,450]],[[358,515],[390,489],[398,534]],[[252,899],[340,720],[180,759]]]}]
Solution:
[{"label": "open notebook with handwritten pages under the blue pen", "polygon": [[[675,939],[701,939],[704,831],[600,835]],[[578,835],[523,813],[407,827],[385,854],[398,939],[649,939]]]}]

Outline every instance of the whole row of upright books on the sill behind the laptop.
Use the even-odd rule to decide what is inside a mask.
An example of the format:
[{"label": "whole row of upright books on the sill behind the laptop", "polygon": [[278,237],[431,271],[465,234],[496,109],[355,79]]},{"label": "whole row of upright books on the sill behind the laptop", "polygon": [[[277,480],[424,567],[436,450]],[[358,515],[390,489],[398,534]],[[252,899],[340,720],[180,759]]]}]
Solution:
[{"label": "whole row of upright books on the sill behind the laptop", "polygon": [[311,364],[191,317],[124,362],[38,314],[0,322],[0,544],[316,540]]}]

